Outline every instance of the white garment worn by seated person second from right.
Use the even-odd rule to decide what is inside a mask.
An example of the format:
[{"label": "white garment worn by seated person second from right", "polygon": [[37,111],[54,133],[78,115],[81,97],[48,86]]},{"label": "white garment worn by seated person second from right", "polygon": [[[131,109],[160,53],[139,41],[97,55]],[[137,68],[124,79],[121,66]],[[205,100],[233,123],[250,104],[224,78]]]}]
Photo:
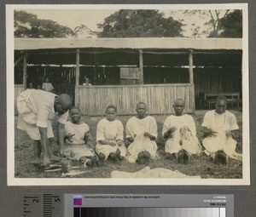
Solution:
[{"label": "white garment worn by seated person second from right", "polygon": [[201,152],[201,145],[196,137],[195,121],[193,117],[187,114],[183,116],[171,115],[166,118],[162,135],[170,128],[176,128],[176,130],[172,133],[172,138],[166,140],[167,153],[177,153],[182,149],[188,151],[190,154],[198,154]]}]

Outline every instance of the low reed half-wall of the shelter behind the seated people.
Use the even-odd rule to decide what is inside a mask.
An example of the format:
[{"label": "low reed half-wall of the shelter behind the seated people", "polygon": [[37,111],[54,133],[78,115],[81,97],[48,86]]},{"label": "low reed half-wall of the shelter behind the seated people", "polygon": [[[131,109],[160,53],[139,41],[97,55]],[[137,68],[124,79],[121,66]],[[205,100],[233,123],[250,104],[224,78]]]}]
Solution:
[{"label": "low reed half-wall of the shelter behind the seated people", "polygon": [[169,114],[173,112],[173,100],[185,100],[185,112],[195,111],[194,84],[155,84],[129,86],[78,86],[76,106],[84,115],[103,115],[108,105],[117,106],[119,115],[135,114],[137,102],[148,105],[148,114]]}]

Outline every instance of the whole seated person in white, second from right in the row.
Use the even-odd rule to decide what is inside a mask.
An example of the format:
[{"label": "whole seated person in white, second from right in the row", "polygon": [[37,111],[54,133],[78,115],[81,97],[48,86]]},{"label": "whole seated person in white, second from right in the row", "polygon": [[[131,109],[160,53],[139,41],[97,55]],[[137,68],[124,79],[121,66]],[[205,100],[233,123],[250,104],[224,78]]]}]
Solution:
[{"label": "whole seated person in white, second from right in the row", "polygon": [[184,100],[174,100],[175,115],[166,118],[162,130],[163,137],[167,139],[166,153],[174,156],[178,163],[189,163],[192,154],[201,152],[195,121],[193,117],[183,113],[184,107]]}]

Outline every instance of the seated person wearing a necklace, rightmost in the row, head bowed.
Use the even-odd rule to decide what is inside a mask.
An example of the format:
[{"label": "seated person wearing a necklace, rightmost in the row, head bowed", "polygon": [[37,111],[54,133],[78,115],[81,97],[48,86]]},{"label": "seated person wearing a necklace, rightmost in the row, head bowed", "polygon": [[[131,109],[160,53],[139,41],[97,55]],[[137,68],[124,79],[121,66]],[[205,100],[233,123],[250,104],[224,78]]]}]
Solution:
[{"label": "seated person wearing a necklace, rightmost in the row, head bowed", "polygon": [[241,159],[236,152],[236,138],[238,138],[238,125],[236,116],[227,111],[227,98],[218,96],[215,100],[215,110],[207,111],[203,123],[204,136],[202,145],[207,155],[212,157],[214,163],[228,163],[228,157]]}]

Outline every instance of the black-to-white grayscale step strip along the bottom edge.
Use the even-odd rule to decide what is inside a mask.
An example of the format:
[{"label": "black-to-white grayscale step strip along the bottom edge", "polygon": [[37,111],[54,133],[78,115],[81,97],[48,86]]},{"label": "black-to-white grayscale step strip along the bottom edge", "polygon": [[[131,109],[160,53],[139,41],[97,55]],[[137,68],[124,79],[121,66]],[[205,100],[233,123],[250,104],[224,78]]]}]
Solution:
[{"label": "black-to-white grayscale step strip along the bottom edge", "polygon": [[225,208],[74,208],[73,217],[226,217]]}]

